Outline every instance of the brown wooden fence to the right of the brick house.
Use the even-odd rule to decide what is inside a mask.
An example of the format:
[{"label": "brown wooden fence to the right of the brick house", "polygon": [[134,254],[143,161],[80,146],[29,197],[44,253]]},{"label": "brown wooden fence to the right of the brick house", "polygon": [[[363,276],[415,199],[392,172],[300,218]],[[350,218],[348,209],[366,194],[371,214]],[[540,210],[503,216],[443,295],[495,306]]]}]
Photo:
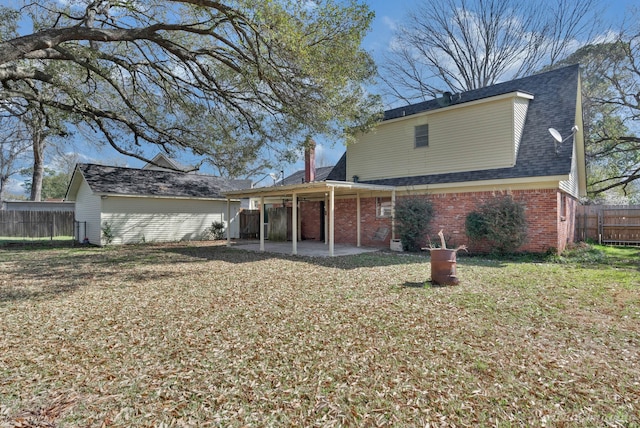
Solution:
[{"label": "brown wooden fence to the right of the brick house", "polygon": [[640,205],[578,206],[576,238],[611,245],[640,245]]}]

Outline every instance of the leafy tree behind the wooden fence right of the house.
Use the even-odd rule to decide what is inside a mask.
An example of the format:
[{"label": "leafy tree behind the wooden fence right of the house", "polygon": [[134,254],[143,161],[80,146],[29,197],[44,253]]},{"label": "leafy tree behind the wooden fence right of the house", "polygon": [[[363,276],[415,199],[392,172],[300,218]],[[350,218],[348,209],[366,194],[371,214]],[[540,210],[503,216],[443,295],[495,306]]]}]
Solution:
[{"label": "leafy tree behind the wooden fence right of the house", "polygon": [[640,32],[584,46],[557,66],[580,64],[587,187],[596,200],[640,196]]}]

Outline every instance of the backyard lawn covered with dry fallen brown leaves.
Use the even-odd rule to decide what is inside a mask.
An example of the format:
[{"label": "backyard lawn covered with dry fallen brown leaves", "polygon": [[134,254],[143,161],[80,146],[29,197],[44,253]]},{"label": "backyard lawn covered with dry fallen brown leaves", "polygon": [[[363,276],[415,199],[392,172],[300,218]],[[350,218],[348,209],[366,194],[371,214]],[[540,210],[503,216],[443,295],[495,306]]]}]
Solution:
[{"label": "backyard lawn covered with dry fallen brown leaves", "polygon": [[0,427],[640,426],[640,250],[0,248]]}]

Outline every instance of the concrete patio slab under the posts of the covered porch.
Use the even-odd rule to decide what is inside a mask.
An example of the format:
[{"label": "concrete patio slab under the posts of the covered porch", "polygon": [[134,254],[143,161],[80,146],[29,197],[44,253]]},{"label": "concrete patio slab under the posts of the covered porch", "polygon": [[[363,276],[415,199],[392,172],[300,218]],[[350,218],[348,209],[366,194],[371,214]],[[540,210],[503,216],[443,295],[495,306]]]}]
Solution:
[{"label": "concrete patio slab under the posts of the covered porch", "polygon": [[[260,252],[259,240],[233,240],[231,247],[240,250]],[[352,245],[335,244],[333,248],[334,256],[352,256],[363,253],[374,253],[380,251],[381,248],[373,247],[356,247]],[[298,241],[298,256],[306,257],[329,257],[329,245],[319,241]],[[292,245],[290,241],[276,242],[265,241],[264,252],[276,254],[292,254]]]}]

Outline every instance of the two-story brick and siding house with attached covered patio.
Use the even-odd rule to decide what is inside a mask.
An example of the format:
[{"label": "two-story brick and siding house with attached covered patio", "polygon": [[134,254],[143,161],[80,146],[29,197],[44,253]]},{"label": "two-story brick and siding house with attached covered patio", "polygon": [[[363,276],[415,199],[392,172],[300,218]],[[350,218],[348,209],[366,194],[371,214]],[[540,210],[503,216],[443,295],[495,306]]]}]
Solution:
[{"label": "two-story brick and siding house with attached covered patio", "polygon": [[469,244],[466,216],[508,193],[526,210],[529,235],[520,250],[561,252],[573,241],[575,209],[586,194],[582,129],[575,65],[388,110],[323,181],[285,180],[227,197],[289,201],[294,241],[388,246],[397,198],[428,197],[434,234],[443,229],[451,244]]}]

